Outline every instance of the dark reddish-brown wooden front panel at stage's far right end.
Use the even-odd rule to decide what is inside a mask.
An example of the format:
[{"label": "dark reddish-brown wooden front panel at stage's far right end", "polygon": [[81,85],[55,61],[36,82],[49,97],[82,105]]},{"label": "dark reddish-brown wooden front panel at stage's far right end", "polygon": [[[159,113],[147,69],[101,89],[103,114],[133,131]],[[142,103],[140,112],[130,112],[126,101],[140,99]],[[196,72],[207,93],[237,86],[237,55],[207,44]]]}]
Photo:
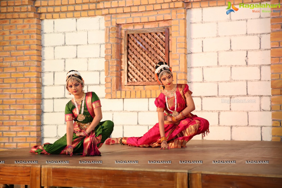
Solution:
[{"label": "dark reddish-brown wooden front panel at stage's far right end", "polygon": [[271,187],[281,188],[282,178],[257,176],[232,176],[221,174],[202,174],[202,188],[225,187]]}]

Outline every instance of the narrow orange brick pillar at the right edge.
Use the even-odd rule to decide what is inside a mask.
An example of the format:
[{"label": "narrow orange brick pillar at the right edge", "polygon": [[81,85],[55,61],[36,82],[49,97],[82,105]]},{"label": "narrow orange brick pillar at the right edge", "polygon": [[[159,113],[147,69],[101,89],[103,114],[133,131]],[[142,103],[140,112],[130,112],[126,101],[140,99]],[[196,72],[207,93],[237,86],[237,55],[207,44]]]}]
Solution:
[{"label": "narrow orange brick pillar at the right edge", "polygon": [[280,12],[271,12],[271,108],[272,108],[272,141],[282,141],[282,1],[272,0],[271,4],[280,3]]}]

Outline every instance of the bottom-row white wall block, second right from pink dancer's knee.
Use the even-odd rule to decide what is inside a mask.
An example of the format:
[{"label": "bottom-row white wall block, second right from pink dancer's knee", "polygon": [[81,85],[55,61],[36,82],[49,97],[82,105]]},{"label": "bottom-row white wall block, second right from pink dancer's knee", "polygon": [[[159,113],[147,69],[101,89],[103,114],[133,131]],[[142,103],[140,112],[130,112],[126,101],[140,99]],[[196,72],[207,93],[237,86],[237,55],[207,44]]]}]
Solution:
[{"label": "bottom-row white wall block, second right from pink dancer's knee", "polygon": [[261,140],[261,127],[232,127],[232,140]]}]

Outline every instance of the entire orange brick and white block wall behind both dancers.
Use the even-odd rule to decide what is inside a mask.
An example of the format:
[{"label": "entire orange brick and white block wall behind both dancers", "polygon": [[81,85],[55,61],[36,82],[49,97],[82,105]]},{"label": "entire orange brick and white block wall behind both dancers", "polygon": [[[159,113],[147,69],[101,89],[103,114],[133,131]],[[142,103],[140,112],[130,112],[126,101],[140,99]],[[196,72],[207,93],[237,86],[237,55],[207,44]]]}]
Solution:
[{"label": "entire orange brick and white block wall behind both dancers", "polygon": [[[242,3],[242,1],[237,0],[233,2],[235,5]],[[244,3],[253,2],[255,1],[244,1]],[[279,0],[271,1],[271,3],[279,2]],[[228,19],[224,20],[224,16],[219,16],[220,13],[215,10],[219,10],[218,6],[225,7],[226,5],[227,1],[222,0],[1,1],[0,61],[5,63],[25,61],[34,64],[25,64],[23,66],[3,64],[0,67],[0,149],[30,147],[41,143],[41,124],[44,125],[42,128],[43,135],[45,135],[43,137],[44,141],[54,141],[65,133],[63,117],[56,116],[63,114],[63,106],[69,100],[69,96],[63,90],[63,74],[78,59],[81,64],[78,69],[85,73],[85,77],[89,78],[86,90],[99,92],[101,102],[104,104],[102,107],[104,120],[109,119],[115,122],[116,126],[112,136],[139,136],[146,132],[157,122],[157,113],[155,112],[153,102],[154,97],[158,96],[160,88],[159,86],[122,86],[119,77],[123,76],[119,74],[119,70],[123,69],[122,61],[120,61],[120,59],[123,59],[123,54],[122,50],[119,50],[122,37],[120,37],[118,32],[126,29],[151,27],[169,28],[169,55],[175,78],[177,78],[178,83],[189,81],[190,84],[193,82],[193,84],[190,84],[190,87],[195,96],[196,110],[198,110],[195,114],[207,117],[214,129],[213,132],[223,132],[223,134],[217,134],[218,139],[241,140],[241,138],[237,138],[235,135],[233,137],[233,133],[230,131],[232,126],[236,128],[236,125],[239,124],[252,129],[249,131],[259,128],[260,130],[257,132],[261,132],[261,139],[270,139],[269,129],[271,126],[268,125],[269,117],[267,122],[262,121],[263,125],[252,121],[254,117],[265,115],[265,113],[268,113],[267,116],[269,116],[270,94],[267,89],[257,90],[252,88],[269,86],[269,75],[267,75],[267,72],[269,72],[268,54],[271,48],[272,140],[281,141],[281,66],[279,65],[281,64],[282,54],[281,13],[271,13],[270,15],[271,33],[269,39],[269,27],[252,27],[256,24],[268,22],[269,16],[246,18],[243,16],[244,14],[240,15],[239,12],[236,12],[238,14],[230,14]],[[189,14],[191,12],[194,12],[193,14],[195,15],[200,14],[200,12],[197,12],[199,11],[197,8],[207,14],[201,14],[201,20],[192,21]],[[244,9],[241,8],[240,11],[243,12]],[[208,14],[211,16],[207,17]],[[212,20],[212,15],[215,15],[218,20]],[[98,18],[97,16],[102,16],[103,18]],[[256,15],[254,14],[253,16]],[[99,19],[99,30],[105,30],[104,41],[101,42],[103,37],[91,38],[93,36],[91,34],[96,32],[95,29],[95,31],[92,29],[78,29],[80,27],[79,20],[82,17],[87,17],[85,19]],[[191,17],[197,19],[193,15]],[[60,28],[60,25],[66,23],[62,21],[66,18],[68,18],[67,23],[69,23],[66,26],[68,28],[67,31],[62,27]],[[42,28],[41,20],[43,20]],[[230,30],[232,32],[230,36],[232,37],[226,36],[226,30],[220,29],[228,26],[227,22],[231,21],[232,24],[235,24],[233,26],[237,24],[236,29]],[[246,34],[244,33],[245,28],[239,27],[240,23],[245,22]],[[57,26],[56,23],[58,23]],[[211,27],[205,28],[209,32],[195,29],[197,27],[201,28],[201,24],[209,23]],[[216,29],[220,32],[217,32],[215,36],[206,36],[207,33],[214,34],[214,26],[212,26],[214,23],[217,23]],[[76,27],[71,28],[73,25],[76,25]],[[84,23],[82,25],[87,24]],[[191,25],[193,25],[192,28]],[[102,28],[100,28],[101,26]],[[56,30],[56,28],[60,29]],[[41,29],[43,31],[42,35]],[[256,33],[257,29],[261,33]],[[190,33],[192,37],[188,36],[186,31],[188,31],[188,34],[189,31],[192,31]],[[86,32],[87,39],[85,37]],[[202,36],[199,36],[199,34],[202,34]],[[235,35],[238,34],[240,36],[236,38]],[[246,38],[241,35],[249,36]],[[259,41],[257,41],[257,36],[259,36]],[[226,43],[226,37],[230,37],[231,45]],[[85,44],[86,40],[87,44]],[[256,42],[247,45],[248,47],[252,46],[251,48],[241,50],[242,45],[240,41],[244,40],[255,40]],[[270,40],[271,47],[263,47]],[[221,42],[222,45],[214,48],[213,42]],[[105,43],[105,50],[103,50],[103,43]],[[100,44],[100,56],[89,57],[89,53],[86,56],[83,55],[84,53],[81,53],[85,51],[87,54],[87,50],[98,50],[97,44]],[[259,48],[257,44],[260,45]],[[228,45],[230,50],[227,50]],[[42,54],[41,46],[44,47]],[[76,46],[76,48],[73,46]],[[199,46],[204,47],[202,51],[199,51],[201,50]],[[73,53],[66,53],[68,51]],[[105,52],[105,59],[103,51]],[[197,57],[196,54],[200,52],[207,54],[207,56]],[[257,63],[258,59],[255,58],[247,58],[246,65],[237,65],[236,61],[231,61],[227,65],[227,62],[222,61],[226,56],[233,55],[241,60],[237,62],[244,62],[244,53],[246,53],[245,57],[255,57],[255,54],[261,54],[263,58],[268,58],[265,61],[268,63]],[[195,65],[195,59],[197,58],[210,57],[213,59],[215,56],[218,58],[217,65],[204,65],[204,61],[198,61],[200,64],[203,63],[201,66],[199,64]],[[41,57],[45,61],[42,65]],[[102,61],[105,61],[105,63],[103,64]],[[211,62],[217,61],[213,60]],[[56,69],[54,66],[56,66]],[[41,67],[43,71],[41,71]],[[226,67],[230,67],[230,72]],[[257,69],[259,69],[259,72]],[[214,75],[211,70],[223,70],[224,74],[222,76]],[[244,74],[247,76],[243,80],[237,79],[239,73],[244,71],[250,71],[254,74],[247,73]],[[93,75],[87,75],[87,72]],[[237,75],[236,72],[238,73]],[[90,79],[92,78],[91,76],[98,79],[92,80]],[[231,79],[230,83],[228,82],[228,76]],[[41,92],[41,83],[43,84],[43,92]],[[245,85],[248,89],[244,87]],[[214,103],[216,99],[222,97],[229,99],[233,95],[231,92],[228,93],[228,91],[222,90],[224,87],[238,87],[238,90],[232,91],[236,93],[237,98],[247,98],[249,96],[258,98],[259,107],[255,107],[256,110],[253,112],[252,110],[242,110],[242,106],[232,107],[232,105],[229,106],[229,109],[225,109],[224,105],[219,105],[216,110],[211,109],[211,106],[206,104]],[[52,89],[55,89],[56,93],[52,92]],[[209,94],[205,93],[207,91]],[[42,98],[43,101],[41,102]],[[138,104],[133,108],[132,103],[137,102]],[[43,113],[41,113],[41,103],[43,103]],[[113,103],[116,104],[114,107]],[[248,106],[245,107],[248,108]],[[236,108],[237,110],[233,110]],[[234,113],[243,117],[243,119],[242,121],[234,120],[235,122],[237,121],[236,125],[228,125],[230,121],[226,121],[226,119],[230,118]],[[132,118],[128,119],[129,116]],[[144,116],[148,118],[144,118]],[[246,121],[246,116],[248,121]],[[51,122],[52,119],[55,119],[55,121]],[[52,132],[54,129],[57,129],[57,132]],[[264,130],[267,134],[264,134]],[[227,134],[226,136],[226,132],[230,132],[230,135]],[[259,140],[257,139],[258,137],[252,139]],[[212,135],[206,138],[217,139],[212,138]],[[197,136],[195,139],[201,138]]]}]

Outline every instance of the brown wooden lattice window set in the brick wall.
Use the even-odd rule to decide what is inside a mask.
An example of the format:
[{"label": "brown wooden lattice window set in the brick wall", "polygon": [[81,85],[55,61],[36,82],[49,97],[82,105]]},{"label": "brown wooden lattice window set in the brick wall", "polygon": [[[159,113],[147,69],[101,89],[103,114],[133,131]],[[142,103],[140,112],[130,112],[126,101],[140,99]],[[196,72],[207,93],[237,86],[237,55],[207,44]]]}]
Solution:
[{"label": "brown wooden lattice window set in the brick wall", "polygon": [[125,31],[125,85],[158,85],[155,66],[169,60],[168,28]]}]

